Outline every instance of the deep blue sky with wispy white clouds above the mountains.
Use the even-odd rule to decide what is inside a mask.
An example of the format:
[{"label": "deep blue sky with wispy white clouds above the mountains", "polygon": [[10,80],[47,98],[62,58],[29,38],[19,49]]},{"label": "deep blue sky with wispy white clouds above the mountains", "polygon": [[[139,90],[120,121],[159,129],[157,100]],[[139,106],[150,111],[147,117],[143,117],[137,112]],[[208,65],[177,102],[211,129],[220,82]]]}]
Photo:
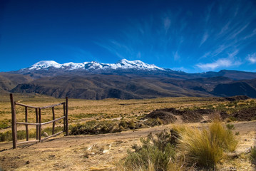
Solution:
[{"label": "deep blue sky with wispy white clouds above the mountains", "polygon": [[0,72],[123,58],[256,72],[256,1],[0,0]]}]

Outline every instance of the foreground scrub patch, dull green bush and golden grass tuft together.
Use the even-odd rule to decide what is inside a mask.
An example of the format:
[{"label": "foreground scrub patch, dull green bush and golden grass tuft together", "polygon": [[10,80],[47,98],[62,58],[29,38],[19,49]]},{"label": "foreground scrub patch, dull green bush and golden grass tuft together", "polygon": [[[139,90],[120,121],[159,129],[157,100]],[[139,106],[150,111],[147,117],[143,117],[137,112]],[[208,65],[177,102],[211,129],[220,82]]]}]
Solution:
[{"label": "foreground scrub patch, dull green bush and golden grass tuft together", "polygon": [[122,170],[190,170],[214,169],[224,152],[233,152],[237,139],[220,121],[202,130],[186,126],[176,127],[141,139],[141,146],[133,145],[133,152],[123,160]]}]

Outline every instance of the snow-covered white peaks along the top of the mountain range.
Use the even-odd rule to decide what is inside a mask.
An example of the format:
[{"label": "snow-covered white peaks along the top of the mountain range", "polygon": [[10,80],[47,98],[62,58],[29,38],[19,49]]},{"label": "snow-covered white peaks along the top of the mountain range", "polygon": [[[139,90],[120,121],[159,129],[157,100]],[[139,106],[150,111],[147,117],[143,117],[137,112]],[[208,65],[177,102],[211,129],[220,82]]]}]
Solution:
[{"label": "snow-covered white peaks along the top of the mountain range", "polygon": [[59,68],[65,71],[72,71],[77,69],[83,70],[118,70],[118,69],[133,69],[133,70],[143,70],[143,71],[165,71],[164,68],[160,68],[155,65],[150,65],[147,63],[143,63],[142,61],[128,61],[123,59],[118,61],[117,63],[98,63],[95,61],[84,62],[84,63],[56,63],[55,61],[40,61],[30,66],[29,68],[24,68],[23,70],[29,69],[29,71],[34,70],[47,70],[49,68]]}]

